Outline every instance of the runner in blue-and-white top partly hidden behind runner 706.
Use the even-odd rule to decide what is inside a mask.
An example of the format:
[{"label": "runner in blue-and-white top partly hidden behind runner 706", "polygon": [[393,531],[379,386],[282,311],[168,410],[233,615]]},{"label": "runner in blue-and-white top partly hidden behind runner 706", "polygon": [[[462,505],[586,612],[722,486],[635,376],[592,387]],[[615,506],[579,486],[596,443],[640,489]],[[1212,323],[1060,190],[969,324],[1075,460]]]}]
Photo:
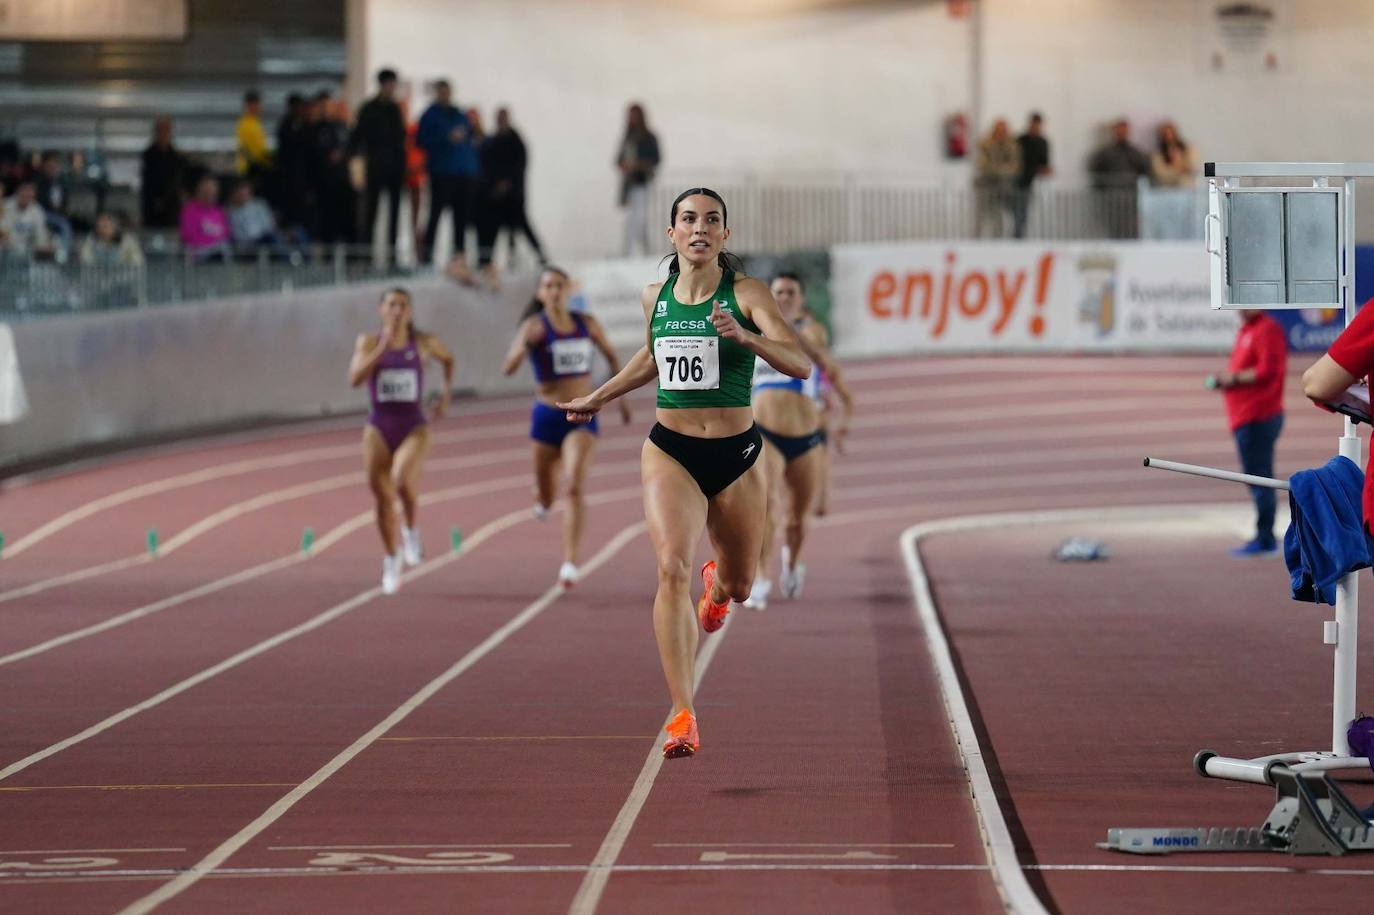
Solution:
[{"label": "runner in blue-and-white top partly hidden behind runner 706", "polygon": [[791,378],[767,363],[754,363],[754,422],[764,437],[764,462],[768,468],[768,523],[758,561],[760,577],[754,580],[753,591],[745,600],[745,606],[754,610],[768,606],[772,589],[768,577],[769,554],[779,525],[783,526],[779,591],[785,598],[796,598],[801,595],[805,583],[807,566],[801,562],[801,547],[826,470],[822,371],[829,375],[844,401],[837,437],[842,438],[848,431],[853,408],[848,389],[838,381],[840,370],[830,359],[826,328],[807,312],[801,279],[796,273],[780,273],[772,282],[772,295],[782,316],[797,330],[813,368],[809,378]]}]

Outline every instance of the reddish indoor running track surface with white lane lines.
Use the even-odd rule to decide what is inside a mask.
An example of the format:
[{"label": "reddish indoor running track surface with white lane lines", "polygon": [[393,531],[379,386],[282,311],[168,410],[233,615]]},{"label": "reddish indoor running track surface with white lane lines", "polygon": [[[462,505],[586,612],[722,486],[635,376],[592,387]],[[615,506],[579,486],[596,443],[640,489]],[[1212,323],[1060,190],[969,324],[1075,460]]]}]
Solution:
[{"label": "reddish indoor running track surface with white lane lines", "polygon": [[[636,460],[647,401],[632,427],[606,429],[591,567],[567,595],[550,588],[558,525],[528,511],[517,400],[469,401],[441,425],[422,484],[430,558],[394,598],[375,588],[356,420],[7,488],[4,908],[1000,911],[899,536],[1120,506],[1178,511],[1011,518],[921,543],[1039,896],[1028,911],[1337,905],[1349,877],[1325,872],[1358,859],[1094,848],[1109,826],[1257,824],[1267,790],[1204,782],[1191,754],[1326,739],[1320,613],[1286,599],[1279,563],[1224,558],[1245,492],[1140,467],[1234,466],[1201,387],[1210,368],[853,367],[859,416],[807,591],[702,640],[703,749],[661,767]],[[1283,473],[1325,460],[1337,436],[1290,390]],[[1073,534],[1116,555],[1050,562]]]}]

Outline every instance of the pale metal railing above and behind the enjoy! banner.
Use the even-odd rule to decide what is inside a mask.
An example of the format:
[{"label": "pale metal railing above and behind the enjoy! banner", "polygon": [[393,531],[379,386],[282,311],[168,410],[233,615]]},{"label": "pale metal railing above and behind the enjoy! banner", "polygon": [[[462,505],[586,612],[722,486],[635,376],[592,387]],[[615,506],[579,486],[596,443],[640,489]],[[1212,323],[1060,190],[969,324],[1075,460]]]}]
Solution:
[{"label": "pale metal railing above and behind the enjoy! banner", "polygon": [[[660,180],[650,218],[666,217],[683,183]],[[746,253],[778,254],[864,242],[1010,239],[1200,239],[1206,195],[1193,190],[870,184],[734,179],[712,187],[730,206]],[[1198,209],[1201,206],[1201,209]],[[1021,231],[1018,232],[1018,224]]]}]

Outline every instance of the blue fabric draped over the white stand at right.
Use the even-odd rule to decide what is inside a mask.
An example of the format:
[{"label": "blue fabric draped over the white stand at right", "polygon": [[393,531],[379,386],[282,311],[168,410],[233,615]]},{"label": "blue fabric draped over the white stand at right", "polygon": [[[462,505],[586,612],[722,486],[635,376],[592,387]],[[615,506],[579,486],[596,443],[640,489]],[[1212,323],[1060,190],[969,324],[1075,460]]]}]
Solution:
[{"label": "blue fabric draped over the white stand at right", "polygon": [[1334,606],[1336,583],[1374,565],[1360,510],[1363,486],[1364,474],[1349,458],[1331,458],[1289,479],[1293,518],[1283,533],[1283,559],[1294,600]]}]

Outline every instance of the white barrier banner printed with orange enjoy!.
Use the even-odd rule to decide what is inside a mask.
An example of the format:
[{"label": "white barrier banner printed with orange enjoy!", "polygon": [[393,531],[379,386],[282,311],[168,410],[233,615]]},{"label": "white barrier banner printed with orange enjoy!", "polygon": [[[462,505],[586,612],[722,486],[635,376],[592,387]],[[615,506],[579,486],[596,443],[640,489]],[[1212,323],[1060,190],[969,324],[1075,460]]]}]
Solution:
[{"label": "white barrier banner printed with orange enjoy!", "polygon": [[1182,243],[845,245],[831,251],[835,346],[849,357],[960,352],[1216,352],[1206,251]]}]

